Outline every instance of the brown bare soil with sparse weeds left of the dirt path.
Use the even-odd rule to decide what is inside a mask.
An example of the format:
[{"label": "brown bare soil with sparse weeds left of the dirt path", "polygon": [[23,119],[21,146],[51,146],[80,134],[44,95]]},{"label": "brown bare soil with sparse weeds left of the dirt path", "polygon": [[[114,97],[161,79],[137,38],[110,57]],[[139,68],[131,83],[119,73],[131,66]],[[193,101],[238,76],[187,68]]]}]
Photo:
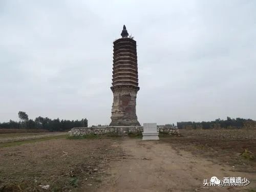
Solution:
[{"label": "brown bare soil with sparse weeds left of the dirt path", "polygon": [[0,191],[92,191],[106,177],[114,139],[52,139],[0,148]]}]

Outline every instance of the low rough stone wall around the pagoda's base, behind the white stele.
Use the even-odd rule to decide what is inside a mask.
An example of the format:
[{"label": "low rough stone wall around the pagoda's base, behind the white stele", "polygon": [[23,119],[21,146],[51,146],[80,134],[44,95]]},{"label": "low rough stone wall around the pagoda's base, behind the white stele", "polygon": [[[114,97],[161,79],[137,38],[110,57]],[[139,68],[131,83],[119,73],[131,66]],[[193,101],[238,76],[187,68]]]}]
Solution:
[{"label": "low rough stone wall around the pagoda's base, behind the white stele", "polygon": [[[157,131],[169,135],[179,135],[177,127],[157,126]],[[72,135],[88,135],[88,134],[117,134],[125,136],[128,134],[138,134],[143,132],[143,126],[95,126],[95,127],[74,127],[69,131]]]}]

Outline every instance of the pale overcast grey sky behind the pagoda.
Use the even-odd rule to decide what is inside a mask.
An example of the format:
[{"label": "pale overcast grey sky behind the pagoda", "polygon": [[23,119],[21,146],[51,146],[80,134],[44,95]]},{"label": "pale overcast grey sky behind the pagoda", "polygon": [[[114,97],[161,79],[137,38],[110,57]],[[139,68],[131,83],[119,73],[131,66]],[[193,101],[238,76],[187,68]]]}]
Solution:
[{"label": "pale overcast grey sky behind the pagoda", "polygon": [[256,119],[256,1],[0,1],[0,122],[109,124],[113,41],[137,41],[139,122]]}]

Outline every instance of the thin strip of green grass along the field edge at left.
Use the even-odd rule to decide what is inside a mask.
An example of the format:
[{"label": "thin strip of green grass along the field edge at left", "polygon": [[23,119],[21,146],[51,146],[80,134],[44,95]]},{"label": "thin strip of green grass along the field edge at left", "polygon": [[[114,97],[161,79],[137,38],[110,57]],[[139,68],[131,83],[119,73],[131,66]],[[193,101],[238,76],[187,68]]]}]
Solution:
[{"label": "thin strip of green grass along the field edge at left", "polygon": [[6,143],[0,143],[0,147],[9,147],[9,146],[18,146],[22,144],[27,144],[27,143],[35,143],[39,141],[47,141],[51,139],[61,139],[61,138],[66,138],[67,135],[59,135],[59,136],[48,136],[44,138],[39,138],[39,139],[28,139],[24,141],[11,141],[11,142],[6,142]]}]

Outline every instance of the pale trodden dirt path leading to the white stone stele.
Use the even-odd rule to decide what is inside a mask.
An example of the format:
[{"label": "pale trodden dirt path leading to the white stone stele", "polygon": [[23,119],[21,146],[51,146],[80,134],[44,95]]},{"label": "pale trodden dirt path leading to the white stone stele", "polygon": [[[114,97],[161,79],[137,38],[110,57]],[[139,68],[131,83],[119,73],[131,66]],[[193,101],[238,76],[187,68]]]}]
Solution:
[{"label": "pale trodden dirt path leading to the white stone stele", "polygon": [[[230,166],[177,152],[168,143],[122,139],[114,145],[126,156],[111,163],[111,176],[97,191],[247,191],[256,187],[255,173],[233,172]],[[204,188],[203,180],[212,176],[245,177],[251,183],[246,187]]]}]

